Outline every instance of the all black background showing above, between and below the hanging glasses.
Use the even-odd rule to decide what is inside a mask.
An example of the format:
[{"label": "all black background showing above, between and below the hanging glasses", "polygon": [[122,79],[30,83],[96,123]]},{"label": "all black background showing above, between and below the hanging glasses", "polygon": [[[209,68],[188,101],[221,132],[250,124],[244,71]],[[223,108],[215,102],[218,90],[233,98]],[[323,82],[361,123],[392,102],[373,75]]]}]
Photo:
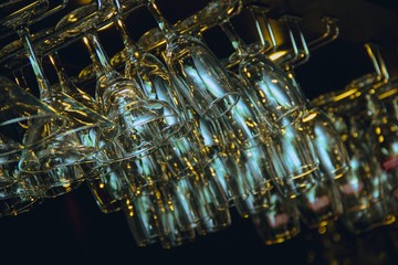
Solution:
[{"label": "all black background showing above, between and below the hanging glasses", "polygon": [[[159,2],[171,21],[184,18],[199,4],[199,1],[190,4],[177,0]],[[272,18],[284,12],[301,15],[303,31],[310,40],[322,32],[321,15],[339,18],[342,34],[337,41],[313,51],[310,61],[296,68],[297,80],[310,98],[341,89],[352,80],[374,72],[364,49],[365,42],[380,44],[391,75],[396,72],[396,1],[265,2],[273,11]],[[143,11],[132,18],[132,24],[139,25],[133,30],[134,38],[138,39],[155,25],[147,17]],[[244,30],[243,25],[237,28]],[[112,38],[115,34],[112,30],[101,34],[112,56],[122,44],[117,38]],[[226,53],[221,43],[222,40],[217,38],[209,43],[220,56]],[[76,49],[78,43],[73,45],[74,49],[61,51],[71,75],[90,62],[84,49]],[[197,236],[187,245],[172,250],[163,250],[159,244],[137,247],[123,213],[102,213],[83,184],[69,194],[43,201],[28,213],[2,218],[0,264],[398,264],[395,224],[358,236],[346,232],[338,222],[325,234],[303,226],[295,239],[265,246],[250,220],[238,216],[234,209],[231,214],[230,227]]]}]

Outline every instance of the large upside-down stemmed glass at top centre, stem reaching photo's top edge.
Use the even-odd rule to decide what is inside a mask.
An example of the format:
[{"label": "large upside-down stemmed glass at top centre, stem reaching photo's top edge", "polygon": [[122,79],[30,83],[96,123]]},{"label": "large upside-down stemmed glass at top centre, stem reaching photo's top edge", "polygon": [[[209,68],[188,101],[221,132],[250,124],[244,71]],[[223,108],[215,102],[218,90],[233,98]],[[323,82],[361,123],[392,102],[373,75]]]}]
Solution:
[{"label": "large upside-down stemmed glass at top centre, stem reaching photo's top edge", "polygon": [[155,1],[147,6],[166,39],[166,64],[177,88],[202,117],[218,118],[239,100],[234,85],[213,53],[197,38],[179,34]]}]

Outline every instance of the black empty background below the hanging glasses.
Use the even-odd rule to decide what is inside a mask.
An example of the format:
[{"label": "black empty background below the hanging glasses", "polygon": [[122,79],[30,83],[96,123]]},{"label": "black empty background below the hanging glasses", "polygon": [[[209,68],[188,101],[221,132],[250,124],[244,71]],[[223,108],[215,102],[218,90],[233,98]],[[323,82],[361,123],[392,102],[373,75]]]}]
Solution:
[{"label": "black empty background below the hanging glasses", "polygon": [[325,234],[305,226],[298,236],[266,246],[233,209],[232,225],[163,250],[137,247],[121,212],[101,213],[86,187],[0,221],[1,264],[398,264],[392,224],[354,236],[336,222]]}]

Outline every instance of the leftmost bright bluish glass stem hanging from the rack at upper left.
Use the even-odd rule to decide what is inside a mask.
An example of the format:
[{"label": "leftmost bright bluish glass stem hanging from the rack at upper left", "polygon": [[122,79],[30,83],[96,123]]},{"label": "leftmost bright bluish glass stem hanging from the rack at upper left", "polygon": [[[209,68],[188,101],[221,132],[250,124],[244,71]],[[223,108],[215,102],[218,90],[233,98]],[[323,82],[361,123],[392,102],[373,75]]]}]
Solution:
[{"label": "leftmost bright bluish glass stem hanging from the rack at upper left", "polygon": [[24,49],[28,53],[29,61],[32,65],[35,78],[38,81],[40,98],[51,95],[51,84],[44,75],[43,66],[33,49],[32,40],[30,38],[29,29],[22,24],[17,29],[18,35],[22,39]]}]

